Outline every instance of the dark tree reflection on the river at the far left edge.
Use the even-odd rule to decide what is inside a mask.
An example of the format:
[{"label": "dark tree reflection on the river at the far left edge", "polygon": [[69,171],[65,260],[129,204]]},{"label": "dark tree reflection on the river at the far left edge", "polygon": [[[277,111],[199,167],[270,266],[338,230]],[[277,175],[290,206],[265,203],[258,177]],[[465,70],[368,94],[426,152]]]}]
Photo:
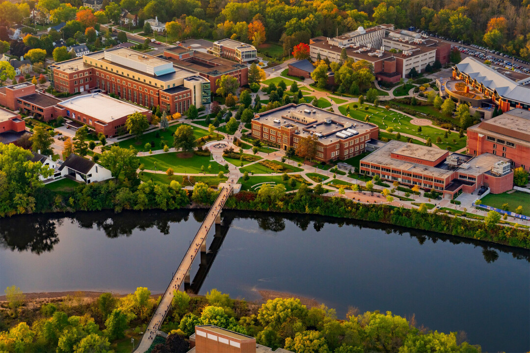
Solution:
[{"label": "dark tree reflection on the river at the far left edge", "polygon": [[0,222],[0,246],[17,251],[42,254],[51,251],[59,242],[57,225],[62,219],[46,215],[24,215],[2,219]]}]

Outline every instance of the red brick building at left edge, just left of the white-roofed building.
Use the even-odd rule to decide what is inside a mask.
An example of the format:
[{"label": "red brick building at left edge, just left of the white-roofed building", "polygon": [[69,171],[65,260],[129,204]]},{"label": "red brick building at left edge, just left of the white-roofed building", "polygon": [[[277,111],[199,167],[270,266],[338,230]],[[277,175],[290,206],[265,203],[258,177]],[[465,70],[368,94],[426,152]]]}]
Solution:
[{"label": "red brick building at left edge, just left of the white-roofed building", "polygon": [[0,104],[11,110],[19,110],[38,119],[50,121],[64,115],[58,106],[61,99],[46,93],[37,92],[35,85],[25,82],[0,88]]}]

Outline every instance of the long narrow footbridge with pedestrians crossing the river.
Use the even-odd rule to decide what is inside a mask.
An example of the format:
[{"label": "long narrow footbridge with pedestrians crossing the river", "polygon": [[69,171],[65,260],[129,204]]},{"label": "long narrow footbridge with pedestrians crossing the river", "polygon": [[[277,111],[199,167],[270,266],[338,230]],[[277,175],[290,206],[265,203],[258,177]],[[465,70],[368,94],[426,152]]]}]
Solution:
[{"label": "long narrow footbridge with pedestrians crossing the river", "polygon": [[193,263],[193,260],[195,260],[197,254],[200,253],[201,249],[206,250],[206,235],[215,223],[220,223],[221,210],[231,192],[232,185],[224,184],[214,204],[211,206],[210,211],[208,211],[208,215],[205,220],[202,221],[195,238],[191,241],[191,245],[188,248],[188,251],[186,251],[186,254],[176,270],[175,275],[171,279],[170,284],[167,286],[164,295],[160,300],[160,304],[158,304],[151,321],[149,321],[149,324],[147,325],[147,330],[142,337],[142,341],[140,341],[138,348],[135,350],[136,353],[144,353],[149,349],[156,336],[156,330],[160,328],[167,311],[170,309],[171,302],[173,301],[173,291],[178,291],[178,289],[184,284],[184,281],[189,282],[191,264]]}]

